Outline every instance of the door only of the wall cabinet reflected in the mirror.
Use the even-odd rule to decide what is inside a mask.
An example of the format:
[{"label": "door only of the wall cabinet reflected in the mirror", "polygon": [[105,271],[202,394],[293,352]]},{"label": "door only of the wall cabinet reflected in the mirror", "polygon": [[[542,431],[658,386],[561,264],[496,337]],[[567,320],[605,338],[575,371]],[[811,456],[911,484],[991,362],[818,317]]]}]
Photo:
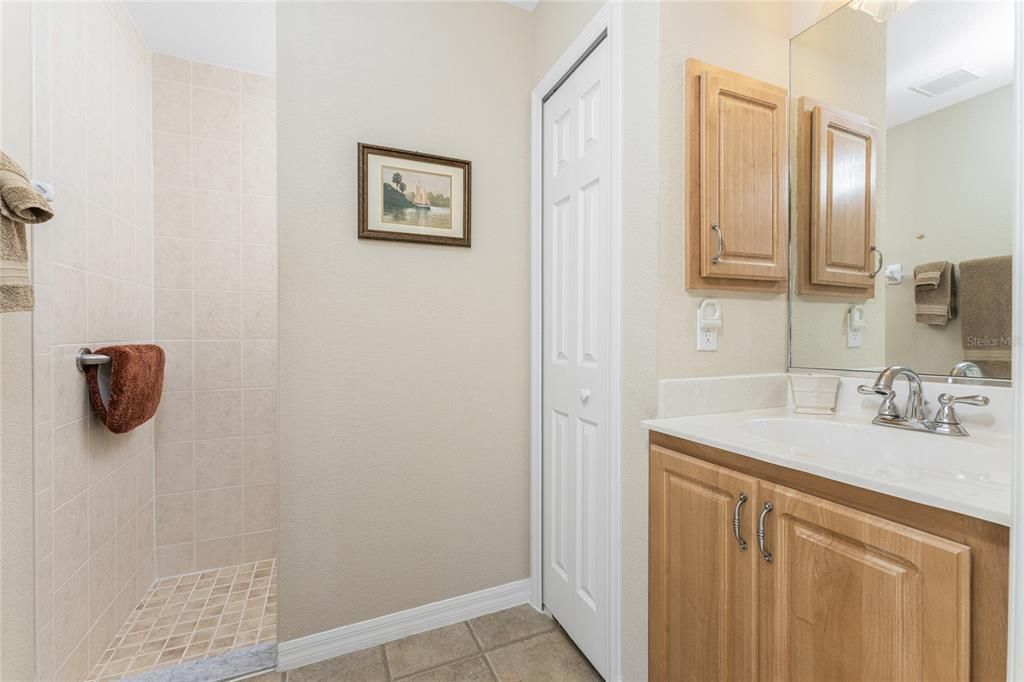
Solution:
[{"label": "door only of the wall cabinet reflected in the mirror", "polygon": [[811,114],[811,282],[874,286],[874,126],[815,106]]}]

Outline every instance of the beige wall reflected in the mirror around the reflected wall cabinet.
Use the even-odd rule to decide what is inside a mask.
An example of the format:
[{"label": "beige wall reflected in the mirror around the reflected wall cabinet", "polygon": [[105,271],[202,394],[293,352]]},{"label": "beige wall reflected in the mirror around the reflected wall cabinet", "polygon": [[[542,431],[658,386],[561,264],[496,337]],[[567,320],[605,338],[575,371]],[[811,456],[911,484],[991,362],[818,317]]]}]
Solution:
[{"label": "beige wall reflected in the mirror around the reflected wall cabinet", "polygon": [[[812,97],[867,117],[878,127],[876,143],[876,243],[887,262],[889,246],[886,201],[886,25],[868,14],[842,9],[793,42],[791,111],[800,97]],[[791,123],[796,123],[795,119]],[[796,127],[791,126],[796,139]],[[796,163],[810,163],[809,159]],[[800,174],[791,167],[793,196]],[[796,252],[791,257],[796,258]],[[803,266],[802,263],[797,263]],[[874,298],[837,300],[823,296],[793,297],[793,364],[795,367],[871,369],[886,367],[886,297],[884,278],[876,284]],[[853,304],[863,305],[867,328],[862,345],[847,348],[846,315]]]}]

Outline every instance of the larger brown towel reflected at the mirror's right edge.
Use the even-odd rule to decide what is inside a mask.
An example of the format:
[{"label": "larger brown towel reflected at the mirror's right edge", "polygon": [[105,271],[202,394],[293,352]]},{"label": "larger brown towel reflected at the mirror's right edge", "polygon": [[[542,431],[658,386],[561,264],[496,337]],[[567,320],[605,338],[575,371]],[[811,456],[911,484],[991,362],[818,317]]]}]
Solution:
[{"label": "larger brown towel reflected at the mirror's right edge", "polygon": [[1010,256],[959,264],[964,359],[987,377],[1010,378],[1013,347],[1013,261]]}]

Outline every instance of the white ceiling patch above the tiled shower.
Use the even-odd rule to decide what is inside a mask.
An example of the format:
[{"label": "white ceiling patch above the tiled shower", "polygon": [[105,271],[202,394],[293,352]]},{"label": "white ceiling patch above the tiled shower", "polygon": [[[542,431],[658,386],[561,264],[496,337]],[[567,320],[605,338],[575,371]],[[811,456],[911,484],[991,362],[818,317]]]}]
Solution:
[{"label": "white ceiling patch above the tiled shower", "polygon": [[273,2],[126,0],[125,4],[154,52],[265,76],[276,72]]}]

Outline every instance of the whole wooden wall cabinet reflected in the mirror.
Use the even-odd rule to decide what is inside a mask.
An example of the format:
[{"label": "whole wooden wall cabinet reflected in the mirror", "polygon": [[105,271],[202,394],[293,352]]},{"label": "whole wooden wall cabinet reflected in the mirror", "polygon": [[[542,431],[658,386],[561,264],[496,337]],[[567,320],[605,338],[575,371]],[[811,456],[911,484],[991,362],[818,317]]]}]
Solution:
[{"label": "whole wooden wall cabinet reflected in the mirror", "polygon": [[874,249],[877,130],[808,97],[800,109],[798,293],[869,298],[882,257]]}]

